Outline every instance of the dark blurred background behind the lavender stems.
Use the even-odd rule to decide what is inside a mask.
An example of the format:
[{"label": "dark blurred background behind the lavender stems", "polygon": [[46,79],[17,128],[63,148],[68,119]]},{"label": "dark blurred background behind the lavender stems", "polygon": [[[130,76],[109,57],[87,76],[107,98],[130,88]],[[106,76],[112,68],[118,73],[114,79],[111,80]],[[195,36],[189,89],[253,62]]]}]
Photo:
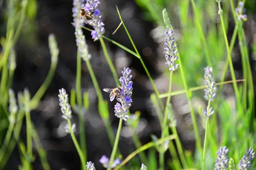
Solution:
[{"label": "dark blurred background behind the lavender stems", "polygon": [[[55,76],[38,108],[35,111],[32,111],[31,117],[32,121],[35,123],[41,143],[47,151],[47,158],[52,169],[79,169],[79,155],[77,154],[70,135],[67,135],[64,131],[66,121],[61,118],[61,111],[58,105],[58,89],[65,88],[68,94],[70,94],[70,90],[75,88],[76,83],[77,47],[74,34],[75,28],[71,25],[71,22],[73,21],[71,10],[73,1],[34,0],[31,2],[36,2],[35,6],[37,11],[34,15],[31,14],[30,18],[26,20],[24,30],[15,46],[17,52],[17,68],[15,70],[12,88],[17,93],[17,91],[23,91],[23,89],[27,87],[32,95],[35,94],[44,82],[49,71],[51,59],[48,49],[48,36],[50,33],[55,34],[60,50]],[[120,23],[119,16],[116,12],[116,4],[119,7],[122,19],[124,20],[138,51],[143,57],[145,65],[154,79],[157,88],[160,93],[166,92],[168,90],[169,79],[163,74],[163,71],[166,70],[166,68],[161,63],[163,62],[162,49],[164,40],[163,32],[161,32],[161,30],[164,30],[164,28],[158,28],[155,22],[148,20],[150,17],[148,17],[147,11],[138,6],[139,0],[137,0],[137,2],[134,0],[100,0],[100,2],[99,9],[102,13],[102,19],[105,23],[106,30],[104,35],[127,48],[134,50],[122,26],[114,35],[111,34]],[[170,4],[170,6],[174,7],[174,11],[170,12],[169,17],[172,20],[171,22],[174,28],[179,30],[180,21],[177,14],[173,15],[178,9],[175,8],[173,2],[170,2]],[[5,6],[6,2],[0,1],[1,36],[5,36],[6,33],[6,20],[4,17],[6,12]],[[254,6],[250,8],[250,10],[249,13],[251,12],[252,14],[249,15],[248,22],[245,23],[244,26],[247,35],[256,33],[256,15],[253,14],[255,13],[254,11],[256,11],[256,7]],[[161,11],[159,13],[161,14]],[[230,14],[230,17],[231,16],[232,15]],[[229,23],[228,37],[231,38],[234,23],[233,21],[230,21]],[[90,26],[87,27],[91,28]],[[93,42],[89,31],[84,30],[84,35],[86,36],[89,51],[92,55],[90,62],[100,88],[114,88],[115,83],[99,41]],[[179,35],[177,34],[177,36]],[[255,57],[255,54],[253,55],[255,38],[255,36],[251,37],[248,41],[250,44],[250,61],[253,67],[253,74],[255,74],[256,67],[255,58],[253,58]],[[129,67],[133,71],[134,91],[131,113],[134,113],[135,111],[141,112],[142,119],[138,127],[138,135],[140,136],[141,142],[143,144],[150,142],[150,134],[155,134],[160,137],[160,124],[149,99],[150,94],[154,93],[154,91],[140,60],[116,45],[111,44],[111,42],[105,40],[105,43],[108,48],[108,53],[119,74],[118,76],[121,76],[121,71],[124,67]],[[239,51],[237,43],[234,51]],[[237,71],[237,79],[241,79],[241,60],[234,59],[233,63],[235,70]],[[200,69],[201,70],[195,68],[194,71],[196,72],[195,74],[201,74],[202,76],[204,70],[203,68]],[[230,79],[229,77],[230,75],[228,74],[227,79]],[[253,78],[255,82],[256,77]],[[196,85],[201,84],[196,83],[190,85],[190,87]],[[82,64],[81,88],[82,93],[84,91],[89,92],[90,98],[90,109],[84,115],[88,160],[93,161],[96,165],[96,169],[100,170],[101,168],[103,169],[103,167],[99,163],[99,159],[102,155],[110,157],[112,147],[109,143],[105,126],[97,110],[97,96],[85,63]],[[173,90],[182,88],[183,87],[180,87],[178,84],[173,85]],[[204,95],[203,91],[198,92],[198,94],[202,97]],[[227,92],[227,95],[228,94],[229,92]],[[104,97],[105,99],[109,99],[109,94],[104,93]],[[204,102],[198,99],[198,97],[193,99],[195,110],[198,105],[205,106]],[[195,139],[192,131],[192,121],[189,115],[186,95],[172,97],[172,103],[178,121],[177,130],[181,142],[186,150],[194,151]],[[116,133],[119,119],[114,116],[114,104],[115,102],[109,102],[110,119],[113,130],[115,130]],[[72,121],[78,123],[77,116],[73,116]],[[25,124],[25,122],[23,123]],[[198,120],[198,125],[201,125],[200,119]],[[202,128],[200,129],[204,130]],[[76,131],[76,135],[78,138],[79,130]],[[25,126],[22,128],[21,136],[24,140],[26,139]],[[131,139],[131,131],[128,127],[125,127],[125,125],[122,128],[119,148],[124,158],[135,150]],[[34,154],[38,156],[36,152],[37,151],[35,151]],[[20,164],[20,158],[19,151],[16,147],[6,165],[6,170],[17,169],[18,164]],[[42,169],[38,157],[33,166],[35,170]]]}]

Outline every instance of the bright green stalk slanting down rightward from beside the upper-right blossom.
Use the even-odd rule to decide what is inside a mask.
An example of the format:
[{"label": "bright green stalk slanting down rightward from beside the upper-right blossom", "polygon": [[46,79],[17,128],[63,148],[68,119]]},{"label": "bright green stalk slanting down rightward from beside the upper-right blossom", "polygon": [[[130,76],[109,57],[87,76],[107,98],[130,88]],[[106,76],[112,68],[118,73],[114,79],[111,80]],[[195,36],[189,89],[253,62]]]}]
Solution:
[{"label": "bright green stalk slanting down rightward from beside the upper-right blossom", "polygon": [[[177,56],[180,58],[179,52],[177,53]],[[182,78],[182,81],[183,81],[184,88],[186,90],[186,96],[187,96],[187,100],[188,100],[188,104],[189,104],[189,108],[190,108],[190,113],[191,113],[191,118],[192,118],[192,123],[193,123],[193,129],[194,129],[194,132],[195,132],[196,148],[201,153],[202,152],[201,139],[200,139],[199,132],[198,132],[198,127],[197,127],[197,124],[196,124],[195,112],[193,110],[193,106],[192,106],[192,102],[191,102],[192,93],[191,93],[191,91],[189,91],[188,85],[186,83],[186,77],[185,77],[185,74],[184,74],[182,62],[181,62],[180,59],[178,59],[177,61],[178,61],[178,64],[179,64],[179,70],[180,70],[180,74],[181,74],[181,78]]]}]

